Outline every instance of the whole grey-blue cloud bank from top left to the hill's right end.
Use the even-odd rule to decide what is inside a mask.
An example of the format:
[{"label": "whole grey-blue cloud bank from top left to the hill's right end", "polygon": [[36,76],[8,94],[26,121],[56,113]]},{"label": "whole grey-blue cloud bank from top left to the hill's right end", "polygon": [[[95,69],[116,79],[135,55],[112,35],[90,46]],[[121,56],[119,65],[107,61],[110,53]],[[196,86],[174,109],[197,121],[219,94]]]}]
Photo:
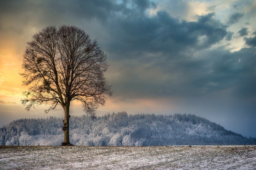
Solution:
[{"label": "whole grey-blue cloud bank from top left to the hill's right end", "polygon": [[[245,27],[238,31],[247,45],[238,51],[230,52],[225,45],[212,48],[232,40],[234,33],[228,28],[237,23],[243,13],[230,14],[226,23],[215,19],[214,12],[197,15],[196,21],[188,22],[166,11],[149,16],[147,11],[156,8],[157,3],[147,0],[6,3],[2,9],[9,7],[11,12],[5,10],[5,13],[20,11],[29,19],[40,19],[40,28],[72,24],[90,30],[87,33],[98,39],[108,56],[110,67],[106,77],[113,84],[112,99],[177,97],[184,105],[187,101],[194,103],[193,107],[199,110],[203,101],[210,107],[201,110],[199,116],[211,118],[237,133],[256,137],[253,131],[256,129],[255,33],[250,37]],[[31,16],[25,10],[39,12]],[[231,109],[222,109],[227,107]],[[189,108],[180,111],[190,113]],[[215,113],[219,111],[222,112]],[[222,114],[225,120],[218,122]]]}]

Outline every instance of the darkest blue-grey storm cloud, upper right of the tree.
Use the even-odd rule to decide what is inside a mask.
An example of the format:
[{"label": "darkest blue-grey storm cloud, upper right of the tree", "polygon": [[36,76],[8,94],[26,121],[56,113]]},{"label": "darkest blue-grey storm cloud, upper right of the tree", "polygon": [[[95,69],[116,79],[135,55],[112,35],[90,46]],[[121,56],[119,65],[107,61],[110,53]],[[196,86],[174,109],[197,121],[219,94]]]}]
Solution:
[{"label": "darkest blue-grey storm cloud, upper right of the tree", "polygon": [[[226,26],[214,19],[214,13],[197,16],[197,22],[172,18],[160,11],[156,16],[116,16],[109,29],[111,43],[109,50],[129,54],[123,57],[138,57],[143,52],[172,53],[177,56],[187,48],[208,48],[227,35]],[[118,57],[121,57],[118,56]]]}]

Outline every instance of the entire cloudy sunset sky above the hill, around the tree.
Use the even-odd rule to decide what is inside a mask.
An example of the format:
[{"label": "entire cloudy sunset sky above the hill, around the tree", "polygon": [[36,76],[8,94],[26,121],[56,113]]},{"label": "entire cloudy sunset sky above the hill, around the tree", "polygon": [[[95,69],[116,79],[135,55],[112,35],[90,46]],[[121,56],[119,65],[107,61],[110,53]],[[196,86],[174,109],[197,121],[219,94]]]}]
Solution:
[{"label": "entire cloudy sunset sky above the hill, around the tree", "polygon": [[[107,55],[113,95],[97,116],[195,114],[256,137],[256,1],[0,0],[0,127],[44,114],[20,102],[26,42],[51,25],[74,25]],[[83,115],[78,102],[71,115]]]}]

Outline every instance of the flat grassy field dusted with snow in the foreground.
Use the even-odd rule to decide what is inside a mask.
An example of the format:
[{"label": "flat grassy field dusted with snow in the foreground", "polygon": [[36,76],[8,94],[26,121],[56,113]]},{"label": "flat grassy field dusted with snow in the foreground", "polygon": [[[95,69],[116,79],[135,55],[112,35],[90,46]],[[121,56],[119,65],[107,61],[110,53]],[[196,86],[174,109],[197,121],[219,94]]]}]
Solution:
[{"label": "flat grassy field dusted with snow in the foreground", "polygon": [[256,169],[256,146],[0,146],[0,169]]}]

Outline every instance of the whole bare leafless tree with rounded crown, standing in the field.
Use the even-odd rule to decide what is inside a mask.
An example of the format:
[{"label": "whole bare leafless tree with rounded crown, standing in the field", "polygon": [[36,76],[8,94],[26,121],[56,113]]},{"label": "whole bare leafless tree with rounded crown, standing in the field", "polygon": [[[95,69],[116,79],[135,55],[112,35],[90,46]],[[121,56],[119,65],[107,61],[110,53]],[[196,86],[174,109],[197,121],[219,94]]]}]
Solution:
[{"label": "whole bare leafless tree with rounded crown, standing in the field", "polygon": [[91,40],[78,27],[62,25],[46,27],[32,36],[23,54],[21,73],[23,85],[29,86],[21,99],[26,110],[35,105],[50,104],[45,110],[64,109],[62,145],[69,142],[69,107],[73,100],[81,102],[84,111],[95,117],[99,105],[105,104],[105,95],[112,91],[104,77],[106,55],[96,40]]}]

